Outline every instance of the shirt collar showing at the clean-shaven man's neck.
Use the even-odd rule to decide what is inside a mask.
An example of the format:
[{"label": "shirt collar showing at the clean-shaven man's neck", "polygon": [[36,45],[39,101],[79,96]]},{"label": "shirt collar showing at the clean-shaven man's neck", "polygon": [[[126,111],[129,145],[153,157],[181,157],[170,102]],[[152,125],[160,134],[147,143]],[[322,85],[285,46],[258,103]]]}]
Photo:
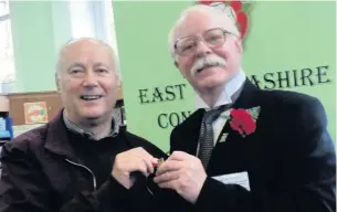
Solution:
[{"label": "shirt collar showing at the clean-shaven man's neck", "polygon": [[[64,125],[65,127],[73,131],[73,132],[76,132],[76,134],[80,134],[82,136],[87,136],[89,139],[93,139],[95,140],[95,135],[92,134],[92,132],[86,132],[84,131],[83,129],[81,129],[77,125],[75,125],[74,123],[72,123],[71,120],[69,120],[65,116],[64,116],[64,113],[63,113],[63,121],[64,121]],[[112,119],[112,131],[106,136],[106,137],[116,137],[119,132],[119,127],[118,125],[116,124],[116,120],[115,118],[113,117]],[[106,138],[105,137],[105,138]]]}]

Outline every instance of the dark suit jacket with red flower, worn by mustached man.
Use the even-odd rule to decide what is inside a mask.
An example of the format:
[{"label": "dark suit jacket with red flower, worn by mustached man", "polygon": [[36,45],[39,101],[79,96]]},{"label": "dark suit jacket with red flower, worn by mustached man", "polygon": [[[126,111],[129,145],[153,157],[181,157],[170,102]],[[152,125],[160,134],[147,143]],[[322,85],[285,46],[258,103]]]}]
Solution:
[{"label": "dark suit jacket with red flower, worn by mustached man", "polygon": [[[262,91],[249,81],[232,108],[260,106],[255,132],[241,137],[229,123],[225,142],[217,142],[208,178],[192,211],[333,212],[336,211],[336,155],[320,102],[304,94]],[[177,126],[176,150],[196,155],[199,109]],[[211,177],[248,171],[250,191]]]}]

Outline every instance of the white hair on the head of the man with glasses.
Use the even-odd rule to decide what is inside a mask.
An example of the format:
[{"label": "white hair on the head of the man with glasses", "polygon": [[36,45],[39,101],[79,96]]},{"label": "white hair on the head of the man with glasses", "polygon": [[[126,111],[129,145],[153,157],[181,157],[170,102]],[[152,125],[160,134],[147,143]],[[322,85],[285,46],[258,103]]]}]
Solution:
[{"label": "white hair on the head of the man with glasses", "polygon": [[190,12],[196,12],[196,11],[204,11],[208,12],[209,14],[212,15],[219,15],[221,19],[223,19],[225,21],[225,30],[228,30],[229,32],[240,36],[240,32],[238,26],[235,25],[235,22],[229,18],[229,15],[221,9],[215,8],[215,7],[211,7],[211,6],[206,6],[206,4],[194,4],[191,6],[189,8],[187,8],[186,10],[183,10],[180,13],[179,19],[176,21],[175,25],[171,28],[170,32],[169,32],[169,36],[168,36],[168,47],[169,47],[169,53],[172,56],[172,59],[176,61],[176,52],[175,52],[175,33],[176,33],[176,29],[177,26],[186,19],[186,17],[190,13]]}]

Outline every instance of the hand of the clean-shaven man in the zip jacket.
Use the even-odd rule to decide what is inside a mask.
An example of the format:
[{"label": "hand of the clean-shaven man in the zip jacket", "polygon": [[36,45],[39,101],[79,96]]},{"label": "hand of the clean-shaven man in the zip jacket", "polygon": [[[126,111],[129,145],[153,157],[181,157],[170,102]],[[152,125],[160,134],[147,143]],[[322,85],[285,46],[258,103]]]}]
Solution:
[{"label": "hand of the clean-shaven man in the zip jacket", "polygon": [[130,176],[134,171],[140,171],[145,177],[154,172],[157,159],[141,147],[118,153],[115,158],[112,176],[125,188],[134,186],[135,179]]}]

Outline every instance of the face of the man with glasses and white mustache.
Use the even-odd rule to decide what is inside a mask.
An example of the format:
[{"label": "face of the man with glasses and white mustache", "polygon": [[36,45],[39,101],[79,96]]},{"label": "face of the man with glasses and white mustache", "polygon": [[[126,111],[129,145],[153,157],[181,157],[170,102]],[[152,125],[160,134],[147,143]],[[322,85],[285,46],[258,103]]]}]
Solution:
[{"label": "face of the man with glasses and white mustache", "polygon": [[211,11],[189,11],[173,31],[175,64],[200,92],[225,84],[241,63],[242,46],[234,23],[225,14]]}]

